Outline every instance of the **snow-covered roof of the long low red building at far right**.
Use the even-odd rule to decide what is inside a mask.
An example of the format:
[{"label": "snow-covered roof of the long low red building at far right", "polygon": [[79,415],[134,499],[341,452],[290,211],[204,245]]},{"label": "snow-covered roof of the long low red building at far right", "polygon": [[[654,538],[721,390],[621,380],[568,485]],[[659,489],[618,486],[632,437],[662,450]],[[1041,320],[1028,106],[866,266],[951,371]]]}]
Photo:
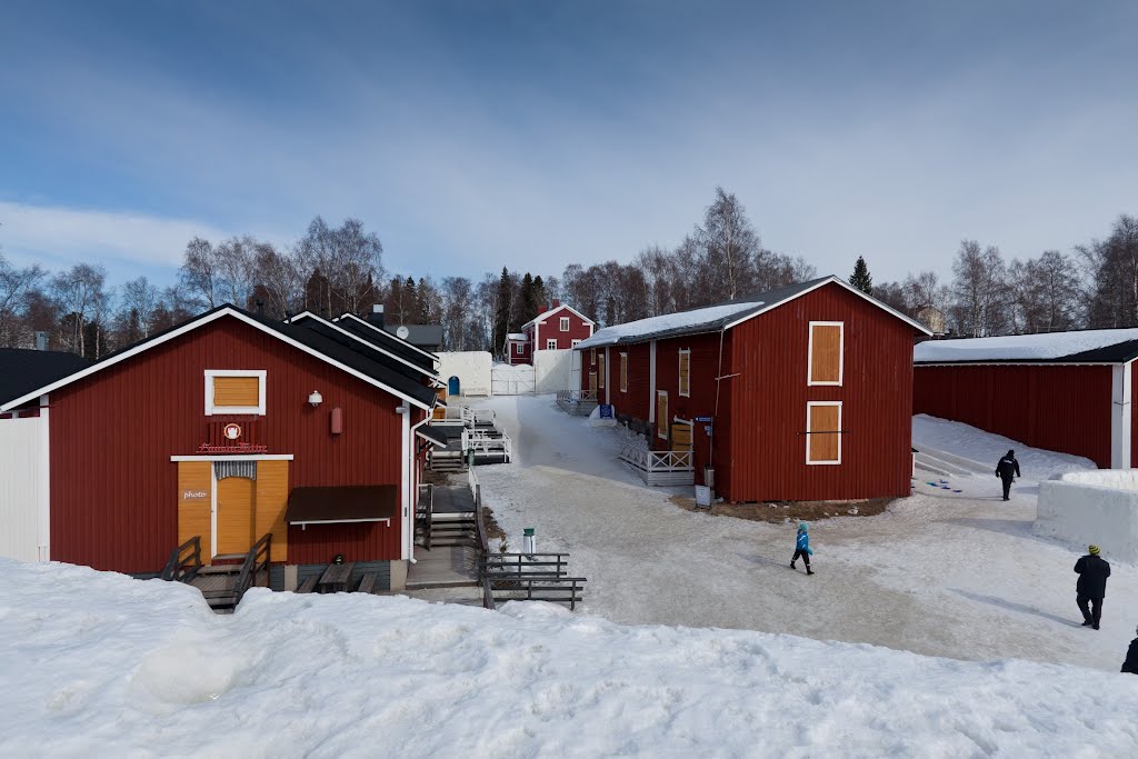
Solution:
[{"label": "snow-covered roof of the long low red building at far right", "polygon": [[1119,363],[1136,356],[1138,329],[927,340],[913,349],[913,362],[917,364]]}]

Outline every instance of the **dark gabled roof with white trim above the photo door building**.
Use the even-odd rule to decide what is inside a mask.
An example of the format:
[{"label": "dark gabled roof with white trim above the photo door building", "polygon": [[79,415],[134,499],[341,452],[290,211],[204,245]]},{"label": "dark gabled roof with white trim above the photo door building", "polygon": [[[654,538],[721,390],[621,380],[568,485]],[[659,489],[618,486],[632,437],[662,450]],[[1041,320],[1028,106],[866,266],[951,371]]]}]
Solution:
[{"label": "dark gabled roof with white trim above the photo door building", "polygon": [[[86,377],[90,373],[126,360],[137,353],[141,353],[155,345],[165,343],[166,340],[173,339],[183,332],[188,332],[222,316],[244,320],[254,327],[277,335],[282,340],[291,343],[294,347],[299,347],[299,349],[305,350],[318,358],[323,358],[325,362],[337,365],[341,370],[346,370],[348,373],[354,373],[357,377],[363,378],[365,381],[370,381],[373,385],[387,389],[396,396],[412,401],[426,409],[431,409],[438,403],[438,396],[431,388],[424,387],[418,381],[412,381],[404,374],[394,371],[373,357],[365,355],[365,353],[363,353],[364,350],[368,350],[365,346],[360,346],[360,350],[355,350],[304,327],[286,324],[264,316],[258,316],[245,311],[244,308],[238,308],[237,306],[226,303],[189,319],[181,324],[151,335],[145,340],[140,340],[132,346],[108,354],[93,364],[81,366],[68,374],[57,377],[55,380],[36,385],[20,396],[13,396],[8,399],[0,401],[0,406],[14,407],[15,401],[20,401],[22,403],[26,402],[27,398],[25,396],[33,390],[40,395],[56,389],[80,379],[81,377]],[[372,352],[368,350],[368,353]]]}]

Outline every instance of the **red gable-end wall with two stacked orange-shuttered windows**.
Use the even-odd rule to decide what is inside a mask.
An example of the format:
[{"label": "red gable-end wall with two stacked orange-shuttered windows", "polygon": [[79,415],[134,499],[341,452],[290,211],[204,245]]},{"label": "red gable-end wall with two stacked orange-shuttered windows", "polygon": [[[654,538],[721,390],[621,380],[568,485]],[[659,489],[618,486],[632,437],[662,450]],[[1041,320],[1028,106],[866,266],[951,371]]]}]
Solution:
[{"label": "red gable-end wall with two stacked orange-shuttered windows", "polygon": [[[807,386],[811,321],[846,324],[841,387]],[[729,476],[716,489],[733,501],[908,495],[913,332],[836,284],[735,327]],[[808,401],[842,402],[841,464],[806,463]]]}]

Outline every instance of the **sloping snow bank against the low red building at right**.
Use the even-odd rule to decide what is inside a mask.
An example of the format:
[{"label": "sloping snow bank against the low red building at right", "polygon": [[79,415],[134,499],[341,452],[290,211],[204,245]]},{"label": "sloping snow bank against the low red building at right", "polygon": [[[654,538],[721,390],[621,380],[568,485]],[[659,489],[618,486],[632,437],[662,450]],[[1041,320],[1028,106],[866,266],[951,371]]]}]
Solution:
[{"label": "sloping snow bank against the low red building at right", "polygon": [[1012,448],[1015,449],[1015,457],[1020,462],[1025,480],[1045,480],[1054,475],[1097,469],[1090,459],[1032,448],[964,422],[938,419],[927,414],[917,414],[913,418],[913,446],[917,449],[922,446],[939,448],[986,464],[992,475],[996,472],[996,463]]}]

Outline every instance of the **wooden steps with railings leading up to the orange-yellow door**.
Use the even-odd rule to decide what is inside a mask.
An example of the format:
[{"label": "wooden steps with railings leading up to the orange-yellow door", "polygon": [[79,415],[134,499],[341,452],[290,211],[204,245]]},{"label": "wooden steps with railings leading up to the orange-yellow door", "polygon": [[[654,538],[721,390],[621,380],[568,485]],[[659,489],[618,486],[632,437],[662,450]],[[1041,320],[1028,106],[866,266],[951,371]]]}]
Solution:
[{"label": "wooden steps with railings leading up to the orange-yellow door", "polygon": [[201,536],[195,536],[174,548],[162,579],[185,583],[201,591],[206,603],[218,614],[231,614],[245,592],[257,584],[261,572],[269,581],[272,534],[265,534],[248,553],[218,554],[213,563],[201,563]]}]

